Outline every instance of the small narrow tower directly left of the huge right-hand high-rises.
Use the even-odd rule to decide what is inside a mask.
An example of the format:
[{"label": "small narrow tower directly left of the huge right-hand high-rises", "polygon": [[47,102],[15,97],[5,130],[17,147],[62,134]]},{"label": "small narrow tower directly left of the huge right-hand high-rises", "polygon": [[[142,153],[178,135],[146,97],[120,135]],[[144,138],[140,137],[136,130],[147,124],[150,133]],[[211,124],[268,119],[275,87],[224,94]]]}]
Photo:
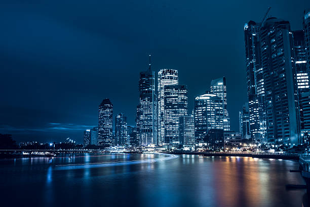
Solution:
[{"label": "small narrow tower directly left of the huge right-hand high-rises", "polygon": [[239,130],[242,139],[251,138],[250,133],[250,115],[249,115],[249,103],[245,103],[242,110],[239,111]]}]

